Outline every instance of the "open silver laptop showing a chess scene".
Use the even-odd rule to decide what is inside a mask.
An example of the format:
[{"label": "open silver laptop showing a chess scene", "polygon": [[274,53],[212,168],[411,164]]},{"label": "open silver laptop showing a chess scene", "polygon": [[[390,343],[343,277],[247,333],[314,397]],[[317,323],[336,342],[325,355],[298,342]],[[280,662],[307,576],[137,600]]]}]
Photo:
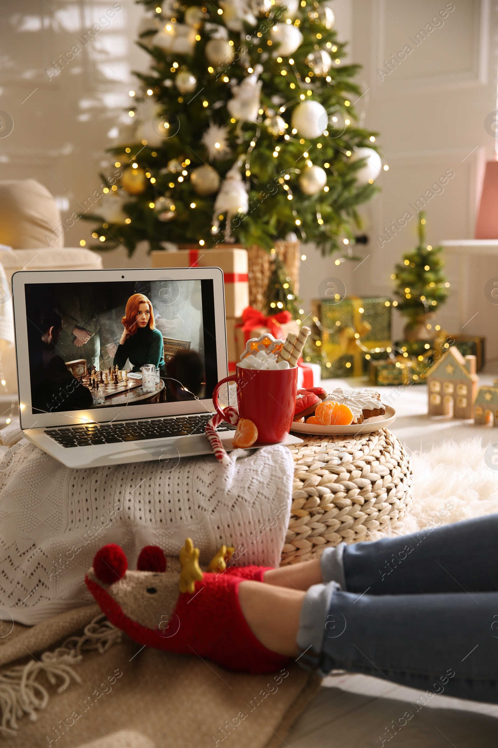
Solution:
[{"label": "open silver laptop showing a chess scene", "polygon": [[[68,468],[169,470],[212,453],[205,425],[228,375],[220,268],[21,271],[12,289],[29,441]],[[234,429],[217,429],[227,451]]]}]

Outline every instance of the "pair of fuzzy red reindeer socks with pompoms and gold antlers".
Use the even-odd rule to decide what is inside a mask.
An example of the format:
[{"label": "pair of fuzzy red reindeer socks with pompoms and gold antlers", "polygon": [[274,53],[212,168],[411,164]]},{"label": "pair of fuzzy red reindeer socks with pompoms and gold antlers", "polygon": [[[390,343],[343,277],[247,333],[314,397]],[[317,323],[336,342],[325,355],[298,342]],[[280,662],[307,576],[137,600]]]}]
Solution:
[{"label": "pair of fuzzy red reindeer socks with pompoms and gold antlers", "polygon": [[[222,571],[224,557],[222,547],[208,568]],[[250,568],[249,577],[237,574],[243,567],[202,571],[199,549],[187,539],[179,560],[146,546],[130,571],[122,548],[111,544],[96,553],[85,583],[102,613],[138,644],[208,657],[237,672],[274,672],[288,658],[258,642],[240,609],[240,582],[259,574]]]}]

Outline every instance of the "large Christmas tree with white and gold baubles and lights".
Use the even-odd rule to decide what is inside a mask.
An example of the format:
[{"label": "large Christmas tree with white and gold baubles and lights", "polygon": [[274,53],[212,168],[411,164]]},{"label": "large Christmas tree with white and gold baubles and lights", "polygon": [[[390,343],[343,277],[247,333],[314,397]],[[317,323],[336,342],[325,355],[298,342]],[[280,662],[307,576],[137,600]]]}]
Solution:
[{"label": "large Christmas tree with white and gold baubles and lights", "polygon": [[323,254],[343,248],[381,159],[357,125],[359,66],[341,64],[333,11],[323,0],[139,1],[152,65],[135,73],[134,132],[110,149],[122,177],[86,216],[99,221],[95,247],[270,249],[295,232]]}]

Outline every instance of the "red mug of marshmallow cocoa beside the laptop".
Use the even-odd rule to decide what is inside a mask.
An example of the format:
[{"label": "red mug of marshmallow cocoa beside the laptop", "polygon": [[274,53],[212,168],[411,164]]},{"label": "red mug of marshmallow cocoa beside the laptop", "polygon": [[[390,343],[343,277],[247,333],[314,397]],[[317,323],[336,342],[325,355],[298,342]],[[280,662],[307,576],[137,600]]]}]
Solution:
[{"label": "red mug of marshmallow cocoa beside the laptop", "polygon": [[218,382],[213,391],[217,412],[225,418],[218,402],[222,384],[237,384],[237,405],[241,418],[249,418],[258,429],[258,444],[278,444],[290,432],[296,408],[297,369],[243,369]]}]

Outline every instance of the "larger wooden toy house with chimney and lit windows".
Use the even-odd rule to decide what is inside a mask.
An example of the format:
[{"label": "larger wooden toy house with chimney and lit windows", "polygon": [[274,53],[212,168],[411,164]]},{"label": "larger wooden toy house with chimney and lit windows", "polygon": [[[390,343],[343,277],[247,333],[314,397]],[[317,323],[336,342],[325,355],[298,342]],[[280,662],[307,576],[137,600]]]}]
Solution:
[{"label": "larger wooden toy house with chimney and lit windows", "polygon": [[476,356],[461,355],[451,346],[427,374],[429,416],[452,415],[467,420],[474,417],[474,400],[479,377]]}]

